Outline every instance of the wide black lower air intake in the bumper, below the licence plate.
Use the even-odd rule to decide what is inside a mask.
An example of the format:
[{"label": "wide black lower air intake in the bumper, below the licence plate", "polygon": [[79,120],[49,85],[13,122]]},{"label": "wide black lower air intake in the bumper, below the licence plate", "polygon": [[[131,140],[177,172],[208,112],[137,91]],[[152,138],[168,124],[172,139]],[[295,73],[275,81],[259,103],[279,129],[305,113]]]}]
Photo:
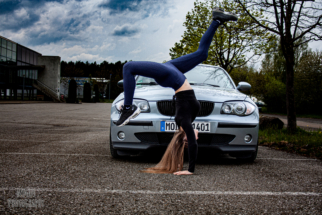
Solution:
[{"label": "wide black lower air intake in the bumper, below the licence plate", "polygon": [[[135,133],[135,136],[142,143],[168,145],[174,133],[155,133],[142,132]],[[235,138],[235,135],[230,134],[203,134],[198,135],[198,145],[227,145]]]}]

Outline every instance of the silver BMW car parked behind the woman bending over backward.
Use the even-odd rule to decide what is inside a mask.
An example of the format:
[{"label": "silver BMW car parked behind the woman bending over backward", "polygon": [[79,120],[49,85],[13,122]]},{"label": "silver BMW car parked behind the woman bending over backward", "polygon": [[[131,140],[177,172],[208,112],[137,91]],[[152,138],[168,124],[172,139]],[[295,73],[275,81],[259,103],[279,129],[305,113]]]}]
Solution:
[{"label": "silver BMW car parked behind the woman bending over backward", "polygon": [[[218,66],[200,64],[185,73],[201,109],[192,123],[199,131],[198,147],[253,162],[258,151],[259,113],[256,104],[236,87],[229,74]],[[123,81],[118,83],[123,87]],[[121,93],[111,107],[110,151],[114,158],[136,155],[149,149],[165,149],[178,129],[175,121],[174,90],[154,79],[136,76],[133,104],[141,113],[122,127],[115,122],[124,102]]]}]

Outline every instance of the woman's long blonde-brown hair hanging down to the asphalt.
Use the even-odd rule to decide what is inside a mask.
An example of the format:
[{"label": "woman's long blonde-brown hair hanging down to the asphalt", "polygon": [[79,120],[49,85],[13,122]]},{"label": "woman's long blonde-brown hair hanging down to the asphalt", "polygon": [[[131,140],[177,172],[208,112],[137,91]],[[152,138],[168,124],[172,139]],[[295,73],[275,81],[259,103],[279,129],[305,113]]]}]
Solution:
[{"label": "woman's long blonde-brown hair hanging down to the asphalt", "polygon": [[173,173],[181,171],[183,168],[183,155],[185,147],[185,132],[177,130],[161,161],[154,167],[141,170],[146,173]]}]

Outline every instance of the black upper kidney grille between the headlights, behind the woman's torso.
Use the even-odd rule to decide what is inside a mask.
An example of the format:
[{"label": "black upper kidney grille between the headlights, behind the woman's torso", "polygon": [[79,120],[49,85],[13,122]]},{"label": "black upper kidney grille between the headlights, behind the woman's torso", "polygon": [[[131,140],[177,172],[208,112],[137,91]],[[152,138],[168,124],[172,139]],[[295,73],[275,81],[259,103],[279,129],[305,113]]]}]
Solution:
[{"label": "black upper kidney grille between the headlights, behind the woman's torso", "polygon": [[[197,116],[208,116],[214,109],[213,102],[199,101],[201,109]],[[172,100],[163,100],[157,102],[158,110],[162,115],[174,116],[176,108],[172,106]]]}]

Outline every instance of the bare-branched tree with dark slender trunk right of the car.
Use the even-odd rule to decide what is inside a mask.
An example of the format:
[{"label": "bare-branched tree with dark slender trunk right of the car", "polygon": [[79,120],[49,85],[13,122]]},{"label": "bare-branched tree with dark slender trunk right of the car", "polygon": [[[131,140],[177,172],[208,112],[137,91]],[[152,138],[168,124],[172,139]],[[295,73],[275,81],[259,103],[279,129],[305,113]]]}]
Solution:
[{"label": "bare-branched tree with dark slender trunk right of the car", "polygon": [[[294,100],[294,49],[302,43],[322,40],[321,0],[235,0],[262,29],[279,36],[286,68],[287,129],[296,130]],[[268,17],[255,17],[252,10],[265,11]],[[266,24],[265,24],[266,23]]]}]

